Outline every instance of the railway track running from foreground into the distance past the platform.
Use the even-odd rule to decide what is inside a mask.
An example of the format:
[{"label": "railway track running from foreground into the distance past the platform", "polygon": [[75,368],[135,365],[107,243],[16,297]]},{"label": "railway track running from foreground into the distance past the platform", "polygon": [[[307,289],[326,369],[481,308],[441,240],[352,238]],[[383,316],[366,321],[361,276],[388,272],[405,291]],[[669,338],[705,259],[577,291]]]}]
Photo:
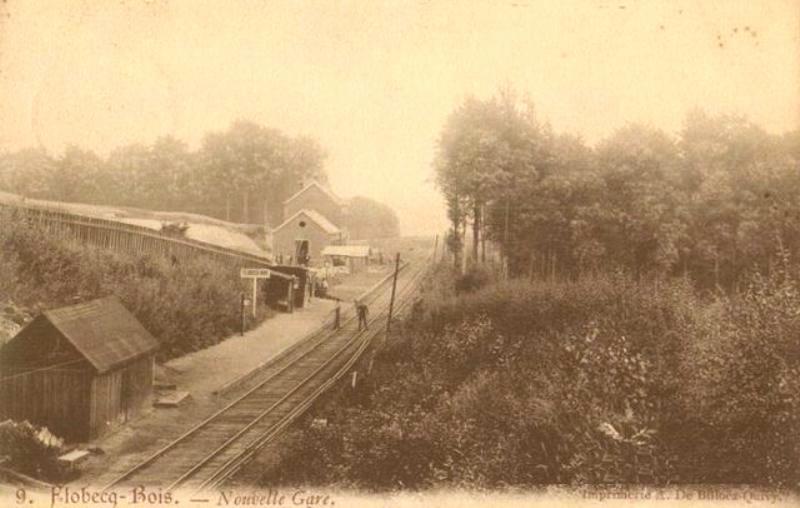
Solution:
[{"label": "railway track running from foreground into the distance past the platform", "polygon": [[[403,267],[395,315],[409,305],[424,272],[425,266]],[[106,489],[146,485],[196,492],[222,484],[344,375],[370,340],[383,331],[389,292],[376,287],[365,299],[373,313],[368,330],[358,331],[355,316],[350,316],[338,330],[313,335],[267,366],[255,386],[111,481]]]}]

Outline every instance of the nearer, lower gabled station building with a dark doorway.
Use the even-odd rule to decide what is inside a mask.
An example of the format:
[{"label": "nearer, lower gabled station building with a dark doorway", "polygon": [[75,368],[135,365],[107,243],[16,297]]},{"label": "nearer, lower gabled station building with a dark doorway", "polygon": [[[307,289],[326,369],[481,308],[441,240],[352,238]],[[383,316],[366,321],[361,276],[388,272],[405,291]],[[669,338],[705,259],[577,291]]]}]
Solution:
[{"label": "nearer, lower gabled station building with a dark doorway", "polygon": [[272,231],[273,257],[279,262],[321,264],[322,249],[343,241],[342,230],[315,210],[298,210]]}]

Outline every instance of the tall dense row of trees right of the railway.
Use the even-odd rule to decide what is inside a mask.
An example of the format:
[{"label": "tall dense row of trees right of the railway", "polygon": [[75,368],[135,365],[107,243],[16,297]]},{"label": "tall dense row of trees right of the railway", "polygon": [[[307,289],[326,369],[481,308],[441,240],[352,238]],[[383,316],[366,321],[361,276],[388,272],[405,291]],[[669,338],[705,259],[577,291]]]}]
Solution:
[{"label": "tall dense row of trees right of the railway", "polygon": [[451,114],[435,171],[456,262],[466,239],[474,260],[488,240],[512,275],[622,268],[733,287],[800,250],[800,132],[738,116],[696,110],[678,136],[628,125],[589,147],[501,92]]}]

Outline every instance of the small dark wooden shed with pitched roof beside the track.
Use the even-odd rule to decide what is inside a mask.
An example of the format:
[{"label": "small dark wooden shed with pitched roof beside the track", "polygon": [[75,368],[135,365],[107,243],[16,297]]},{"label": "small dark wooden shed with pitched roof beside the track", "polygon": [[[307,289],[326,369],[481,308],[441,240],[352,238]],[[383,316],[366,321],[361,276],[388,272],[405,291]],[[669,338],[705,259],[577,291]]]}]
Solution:
[{"label": "small dark wooden shed with pitched roof beside the track", "polygon": [[158,346],[117,297],[45,311],[0,349],[0,419],[95,439],[141,410]]}]

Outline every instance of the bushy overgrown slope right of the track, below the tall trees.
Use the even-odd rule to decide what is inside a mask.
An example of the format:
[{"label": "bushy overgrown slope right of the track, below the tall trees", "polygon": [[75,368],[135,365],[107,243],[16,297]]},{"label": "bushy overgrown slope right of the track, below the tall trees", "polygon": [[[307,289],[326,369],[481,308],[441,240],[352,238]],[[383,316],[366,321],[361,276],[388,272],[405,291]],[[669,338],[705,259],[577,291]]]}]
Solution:
[{"label": "bushy overgrown slope right of the track, below the tall trees", "polygon": [[797,486],[796,273],[703,300],[685,279],[468,277],[437,270],[371,374],[290,433],[261,481]]}]

